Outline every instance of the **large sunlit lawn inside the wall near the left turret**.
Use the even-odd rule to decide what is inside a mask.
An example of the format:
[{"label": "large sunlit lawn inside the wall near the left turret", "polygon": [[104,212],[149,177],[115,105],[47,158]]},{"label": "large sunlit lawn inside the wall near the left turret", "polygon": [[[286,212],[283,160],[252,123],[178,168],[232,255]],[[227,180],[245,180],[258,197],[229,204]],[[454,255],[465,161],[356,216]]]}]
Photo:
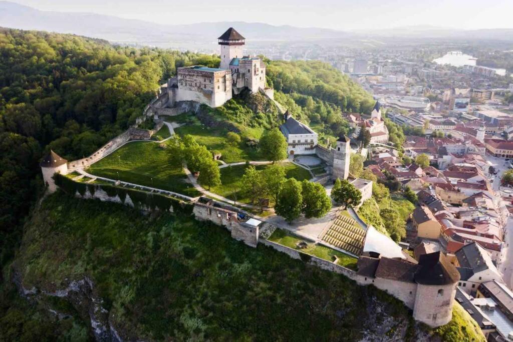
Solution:
[{"label": "large sunlit lawn inside the wall near the left turret", "polygon": [[170,168],[168,156],[160,144],[129,143],[94,163],[88,172],[97,176],[120,179],[189,196],[199,193],[185,180],[182,168]]}]

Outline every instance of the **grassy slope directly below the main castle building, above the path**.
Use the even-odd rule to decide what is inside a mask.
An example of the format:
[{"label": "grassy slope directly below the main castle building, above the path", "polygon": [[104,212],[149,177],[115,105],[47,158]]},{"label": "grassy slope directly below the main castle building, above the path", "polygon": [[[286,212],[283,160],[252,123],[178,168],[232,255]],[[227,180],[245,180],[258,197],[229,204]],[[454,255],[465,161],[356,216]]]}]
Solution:
[{"label": "grassy slope directly below the main castle building, above the path", "polygon": [[246,137],[260,138],[263,129],[247,128],[238,125],[241,129],[240,135],[242,141],[237,145],[230,145],[225,138],[228,133],[226,129],[207,128],[198,123],[197,119],[193,119],[196,120],[196,122],[178,127],[174,131],[181,136],[185,134],[192,135],[194,139],[196,139],[196,142],[205,145],[210,151],[221,153],[221,159],[226,163],[245,162],[246,160],[265,160],[265,158],[262,158],[257,148],[248,147],[245,143]]}]

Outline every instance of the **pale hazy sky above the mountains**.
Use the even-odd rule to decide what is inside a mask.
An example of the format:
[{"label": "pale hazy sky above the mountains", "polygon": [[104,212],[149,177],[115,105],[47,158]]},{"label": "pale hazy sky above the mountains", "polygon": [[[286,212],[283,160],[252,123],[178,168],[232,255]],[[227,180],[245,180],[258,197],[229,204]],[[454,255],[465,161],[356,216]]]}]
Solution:
[{"label": "pale hazy sky above the mountains", "polygon": [[161,24],[244,21],[340,30],[412,25],[513,28],[513,0],[14,0],[41,10],[93,12]]}]

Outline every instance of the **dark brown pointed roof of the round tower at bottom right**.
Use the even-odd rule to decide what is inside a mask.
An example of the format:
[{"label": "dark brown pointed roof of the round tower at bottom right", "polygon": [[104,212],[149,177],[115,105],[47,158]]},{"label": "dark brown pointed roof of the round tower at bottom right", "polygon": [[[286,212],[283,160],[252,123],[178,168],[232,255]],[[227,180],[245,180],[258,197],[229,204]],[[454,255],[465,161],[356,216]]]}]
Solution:
[{"label": "dark brown pointed roof of the round tower at bottom right", "polygon": [[414,278],[421,285],[449,285],[458,283],[460,272],[439,251],[420,256]]}]

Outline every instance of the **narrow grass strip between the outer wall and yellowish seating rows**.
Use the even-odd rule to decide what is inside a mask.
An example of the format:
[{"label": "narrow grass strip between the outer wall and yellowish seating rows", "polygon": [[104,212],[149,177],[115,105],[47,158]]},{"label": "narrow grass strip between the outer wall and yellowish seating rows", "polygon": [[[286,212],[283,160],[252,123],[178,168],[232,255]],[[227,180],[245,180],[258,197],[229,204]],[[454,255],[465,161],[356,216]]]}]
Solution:
[{"label": "narrow grass strip between the outer wall and yellowish seating rows", "polygon": [[[357,258],[352,257],[350,255],[344,254],[332,248],[314,244],[308,240],[305,240],[299,236],[295,236],[288,231],[283,229],[277,229],[272,233],[269,237],[269,241],[275,242],[277,244],[296,249],[306,254],[317,256],[321,259],[334,261],[334,257],[337,257],[337,265],[344,266],[353,270],[356,270],[356,263],[358,261]],[[304,241],[308,244],[306,248],[298,248],[297,244],[301,241]]]}]

